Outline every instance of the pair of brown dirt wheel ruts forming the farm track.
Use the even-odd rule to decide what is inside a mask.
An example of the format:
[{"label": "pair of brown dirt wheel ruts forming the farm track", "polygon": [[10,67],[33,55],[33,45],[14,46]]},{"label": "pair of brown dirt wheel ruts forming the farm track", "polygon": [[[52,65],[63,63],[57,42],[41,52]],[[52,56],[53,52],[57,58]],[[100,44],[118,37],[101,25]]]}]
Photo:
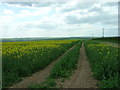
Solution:
[{"label": "pair of brown dirt wheel ruts forming the farm track", "polygon": [[[70,48],[67,52],[69,52],[72,48]],[[13,85],[11,88],[27,88],[30,84],[42,83],[50,74],[53,65],[59,61],[60,58],[63,57],[67,52],[65,52],[57,60],[48,65],[45,69],[33,74],[30,77],[24,78],[21,82]],[[77,64],[77,70],[75,70],[70,79],[66,80],[62,86],[63,88],[97,88],[96,84],[97,80],[92,77],[92,72],[87,60],[83,43],[82,47],[80,48],[80,58]]]}]

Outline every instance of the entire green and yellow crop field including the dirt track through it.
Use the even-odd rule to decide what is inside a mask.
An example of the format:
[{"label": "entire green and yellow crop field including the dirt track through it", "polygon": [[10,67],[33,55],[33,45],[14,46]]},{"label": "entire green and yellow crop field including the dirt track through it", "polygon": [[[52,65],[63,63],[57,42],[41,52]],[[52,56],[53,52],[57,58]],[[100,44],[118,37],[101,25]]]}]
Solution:
[{"label": "entire green and yellow crop field including the dirt track through it", "polygon": [[3,42],[3,88],[120,88],[120,48],[112,43],[98,39]]}]

